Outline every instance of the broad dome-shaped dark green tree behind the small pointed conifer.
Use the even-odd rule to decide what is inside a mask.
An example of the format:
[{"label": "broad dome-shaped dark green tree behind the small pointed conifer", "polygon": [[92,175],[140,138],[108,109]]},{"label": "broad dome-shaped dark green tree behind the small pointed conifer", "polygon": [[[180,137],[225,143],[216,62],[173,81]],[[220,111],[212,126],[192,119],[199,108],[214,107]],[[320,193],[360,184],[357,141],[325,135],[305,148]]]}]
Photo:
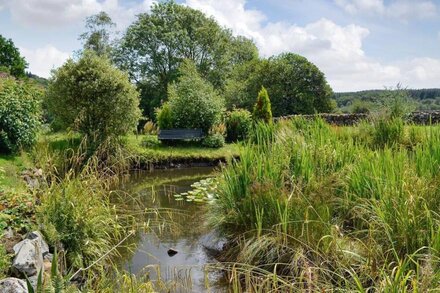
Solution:
[{"label": "broad dome-shaped dark green tree behind the small pointed conifer", "polygon": [[237,66],[225,91],[226,99],[251,109],[254,94],[262,85],[270,94],[274,116],[332,110],[332,90],[324,74],[297,54],[285,53]]}]

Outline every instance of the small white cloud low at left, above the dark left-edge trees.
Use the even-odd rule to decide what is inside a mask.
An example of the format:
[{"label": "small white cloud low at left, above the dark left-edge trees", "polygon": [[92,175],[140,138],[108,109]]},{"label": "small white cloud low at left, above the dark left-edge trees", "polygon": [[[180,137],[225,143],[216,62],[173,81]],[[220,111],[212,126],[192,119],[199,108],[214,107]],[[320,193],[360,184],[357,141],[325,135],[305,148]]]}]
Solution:
[{"label": "small white cloud low at left, above the dark left-edge trees", "polygon": [[69,58],[69,53],[62,52],[53,45],[46,45],[34,50],[19,49],[29,63],[28,70],[33,74],[46,78],[50,76],[52,69],[61,66]]}]

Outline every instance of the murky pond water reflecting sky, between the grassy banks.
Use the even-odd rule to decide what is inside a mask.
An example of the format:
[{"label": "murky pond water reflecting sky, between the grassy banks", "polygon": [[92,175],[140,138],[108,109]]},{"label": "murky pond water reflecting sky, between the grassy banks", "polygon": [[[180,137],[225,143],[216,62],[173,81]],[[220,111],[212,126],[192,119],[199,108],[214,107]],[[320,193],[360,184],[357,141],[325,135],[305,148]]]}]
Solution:
[{"label": "murky pond water reflecting sky, between the grassy banks", "polygon": [[[160,279],[173,292],[227,291],[222,275],[205,267],[215,263],[210,252],[220,249],[224,241],[207,225],[208,204],[176,200],[174,196],[213,173],[210,167],[141,171],[123,183],[122,189],[130,197],[120,201],[120,208],[127,212],[147,209],[150,212],[139,221],[151,227],[137,235],[134,251],[123,253],[120,265],[124,269]],[[173,255],[170,249],[177,253]]]}]

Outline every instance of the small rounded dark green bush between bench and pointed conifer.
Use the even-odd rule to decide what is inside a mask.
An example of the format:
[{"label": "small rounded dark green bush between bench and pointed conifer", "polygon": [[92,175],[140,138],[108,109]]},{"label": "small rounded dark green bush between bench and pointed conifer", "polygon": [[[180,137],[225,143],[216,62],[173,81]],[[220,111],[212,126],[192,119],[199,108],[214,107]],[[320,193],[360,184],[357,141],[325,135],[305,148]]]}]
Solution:
[{"label": "small rounded dark green bush between bench and pointed conifer", "polygon": [[234,109],[226,116],[226,140],[229,142],[245,140],[251,127],[251,113],[245,109]]}]

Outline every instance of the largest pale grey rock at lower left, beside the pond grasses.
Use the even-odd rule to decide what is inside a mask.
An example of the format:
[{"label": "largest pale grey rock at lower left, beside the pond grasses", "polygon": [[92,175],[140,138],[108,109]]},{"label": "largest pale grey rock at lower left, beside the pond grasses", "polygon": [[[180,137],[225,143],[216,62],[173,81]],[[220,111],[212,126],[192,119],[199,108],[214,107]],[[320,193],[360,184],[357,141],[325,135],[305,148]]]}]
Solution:
[{"label": "largest pale grey rock at lower left, beside the pond grasses", "polygon": [[14,270],[28,277],[35,276],[43,268],[43,255],[49,253],[49,246],[38,231],[28,234],[26,239],[14,246]]}]

